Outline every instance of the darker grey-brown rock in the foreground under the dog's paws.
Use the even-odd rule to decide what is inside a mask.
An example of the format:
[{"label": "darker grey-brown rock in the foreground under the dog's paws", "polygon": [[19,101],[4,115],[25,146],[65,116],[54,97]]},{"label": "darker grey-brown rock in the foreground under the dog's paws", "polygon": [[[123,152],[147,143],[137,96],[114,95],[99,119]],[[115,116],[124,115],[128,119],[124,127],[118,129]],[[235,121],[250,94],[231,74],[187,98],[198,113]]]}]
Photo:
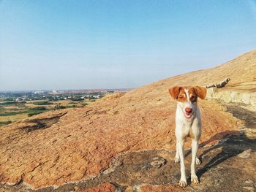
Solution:
[{"label": "darker grey-brown rock in the foreground under the dog's paws", "polygon": [[[254,135],[250,135],[251,137]],[[212,141],[217,145],[209,146]],[[179,165],[175,152],[143,150],[119,154],[111,167],[89,180],[80,180],[37,190],[23,183],[2,186],[4,191],[254,191],[256,139],[244,131],[224,131],[200,145],[197,166],[200,184],[189,182],[187,188],[178,186]],[[185,164],[189,175],[191,151],[186,151]],[[156,164],[157,162],[157,164]],[[159,166],[159,164],[161,166]],[[235,166],[236,165],[236,166]],[[189,180],[189,178],[188,178]],[[236,182],[234,182],[236,181]],[[1,185],[0,185],[1,186]],[[87,188],[87,189],[84,189]]]}]

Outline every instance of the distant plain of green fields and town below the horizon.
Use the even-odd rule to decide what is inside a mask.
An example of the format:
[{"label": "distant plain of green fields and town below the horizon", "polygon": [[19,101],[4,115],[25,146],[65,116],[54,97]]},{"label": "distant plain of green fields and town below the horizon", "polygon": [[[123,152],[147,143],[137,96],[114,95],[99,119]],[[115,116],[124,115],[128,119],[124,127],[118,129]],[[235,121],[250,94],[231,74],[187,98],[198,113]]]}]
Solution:
[{"label": "distant plain of green fields and town below the horizon", "polygon": [[0,126],[50,110],[84,107],[106,94],[129,90],[0,91]]}]

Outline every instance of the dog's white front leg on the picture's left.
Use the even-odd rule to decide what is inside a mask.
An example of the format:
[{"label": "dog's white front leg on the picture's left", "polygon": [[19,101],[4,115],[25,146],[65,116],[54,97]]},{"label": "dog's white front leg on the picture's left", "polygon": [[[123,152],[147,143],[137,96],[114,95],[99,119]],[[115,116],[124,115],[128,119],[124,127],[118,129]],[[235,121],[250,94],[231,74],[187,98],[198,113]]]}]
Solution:
[{"label": "dog's white front leg on the picture's left", "polygon": [[178,139],[178,155],[181,161],[181,180],[179,181],[179,185],[181,185],[181,187],[184,188],[187,186],[187,178],[186,178],[185,163],[184,163],[184,140],[183,139]]}]

